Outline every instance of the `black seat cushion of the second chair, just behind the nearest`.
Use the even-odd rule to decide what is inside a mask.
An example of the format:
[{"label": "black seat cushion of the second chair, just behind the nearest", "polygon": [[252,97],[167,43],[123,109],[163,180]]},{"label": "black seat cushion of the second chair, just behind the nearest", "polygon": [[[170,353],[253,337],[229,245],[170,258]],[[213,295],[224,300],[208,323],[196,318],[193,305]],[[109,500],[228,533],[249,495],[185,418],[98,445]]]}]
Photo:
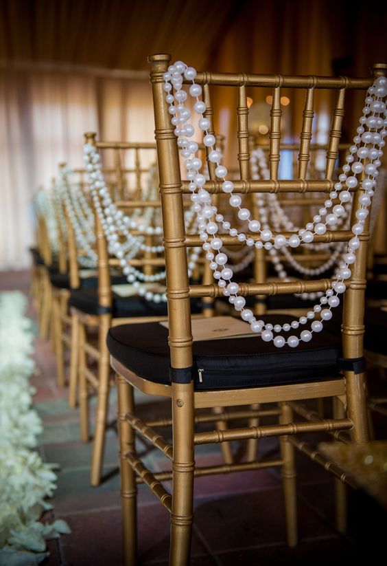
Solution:
[{"label": "black seat cushion of the second chair, just behind the nearest", "polygon": [[111,309],[100,307],[96,288],[71,290],[69,305],[87,314],[111,312],[113,318],[167,315],[166,303],[145,301],[145,298],[139,296],[121,297],[116,293],[113,293],[113,306]]}]

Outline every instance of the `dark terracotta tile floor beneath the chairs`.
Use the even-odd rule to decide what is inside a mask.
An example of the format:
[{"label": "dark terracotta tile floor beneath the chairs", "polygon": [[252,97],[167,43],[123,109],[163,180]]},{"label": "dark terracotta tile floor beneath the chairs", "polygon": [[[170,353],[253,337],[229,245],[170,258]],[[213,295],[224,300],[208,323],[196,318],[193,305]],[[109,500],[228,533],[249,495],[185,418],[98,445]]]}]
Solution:
[{"label": "dark terracotta tile floor beneath the chairs", "polygon": [[[0,274],[0,290],[28,291],[27,272]],[[31,307],[29,316],[34,316]],[[49,543],[50,566],[119,566],[121,512],[117,472],[117,436],[108,431],[104,475],[98,488],[89,486],[91,444],[79,439],[78,409],[69,409],[67,390],[56,386],[55,359],[48,342],[35,341],[37,371],[34,405],[45,431],[40,452],[56,462],[58,489],[54,512],[47,519],[65,519],[72,530],[68,536]],[[115,391],[111,417],[116,411]],[[141,410],[152,414],[154,406],[139,398]],[[379,434],[387,427],[378,424]],[[382,436],[386,437],[386,435]],[[139,449],[143,449],[139,446]],[[277,453],[273,440],[261,442],[263,452]],[[150,451],[148,464],[161,469],[161,457]],[[195,523],[191,564],[200,566],[239,565],[326,565],[361,558],[373,563],[384,550],[387,514],[362,492],[349,492],[349,530],[338,534],[334,527],[333,481],[303,455],[299,459],[298,516],[300,543],[285,544],[281,482],[278,472],[261,470],[236,475],[198,478],[195,485]],[[198,464],[221,461],[218,448],[201,447]],[[139,488],[139,564],[166,565],[168,557],[168,513],[144,486]],[[376,561],[376,560],[375,560]]]}]

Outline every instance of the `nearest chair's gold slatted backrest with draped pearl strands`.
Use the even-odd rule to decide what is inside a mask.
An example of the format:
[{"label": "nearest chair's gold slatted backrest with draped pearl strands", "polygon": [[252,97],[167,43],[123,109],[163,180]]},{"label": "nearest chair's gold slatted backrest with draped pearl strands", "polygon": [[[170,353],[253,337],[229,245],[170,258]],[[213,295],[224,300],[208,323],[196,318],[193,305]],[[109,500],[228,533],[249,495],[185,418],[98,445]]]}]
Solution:
[{"label": "nearest chair's gold slatted backrest with draped pearl strands", "polygon": [[[226,290],[228,300],[240,312],[242,318],[250,323],[254,331],[261,335],[263,340],[274,340],[274,345],[282,347],[288,345],[296,347],[300,340],[309,341],[313,332],[322,329],[324,320],[331,318],[331,309],[340,303],[340,296],[345,293],[342,336],[345,358],[358,358],[362,356],[362,335],[364,334],[363,310],[366,272],[366,244],[368,241],[367,212],[371,204],[371,197],[375,188],[377,167],[380,164],[379,156],[384,145],[384,102],[381,98],[386,96],[386,79],[382,78],[386,65],[373,67],[374,78],[379,76],[377,85],[372,87],[373,79],[347,78],[347,77],[318,77],[318,76],[281,76],[281,75],[251,75],[198,72],[184,63],[178,62],[169,66],[170,58],[165,54],[150,57],[152,66],[150,80],[154,97],[154,116],[156,124],[156,144],[159,157],[160,193],[163,210],[163,230],[165,261],[167,268],[167,299],[169,311],[169,345],[172,368],[188,368],[192,364],[192,336],[189,312],[189,298],[193,296],[222,296]],[[204,144],[207,145],[209,159],[210,180],[203,183],[203,179],[195,172],[192,158],[195,146],[189,138],[192,135],[190,126],[183,121],[176,129],[172,126],[171,115],[178,117],[178,105],[185,102],[187,94],[181,94],[181,83],[188,83],[189,93],[196,98],[195,108],[200,114],[199,127],[204,133]],[[172,83],[176,87],[175,95],[172,93]],[[237,93],[237,141],[239,164],[239,179],[233,183],[227,181],[227,170],[220,166],[219,155],[215,149],[213,138],[213,107],[211,105],[211,89],[233,88]],[[248,105],[247,91],[252,89],[272,89],[272,106],[270,111],[269,133],[269,173],[267,180],[253,180],[250,175],[250,149],[248,131]],[[299,140],[298,168],[296,179],[279,179],[279,160],[281,148],[281,89],[301,89],[305,92],[305,107],[303,109],[302,129]],[[367,89],[370,88],[367,92]],[[325,178],[308,178],[307,164],[309,162],[310,147],[314,118],[314,94],[316,90],[324,89],[333,98],[331,111],[331,129],[327,141],[327,159]],[[338,159],[340,138],[344,119],[344,107],[353,91],[362,90],[366,98],[364,113],[360,118],[360,126],[350,149],[349,160],[344,166],[344,172],[335,181],[334,172]],[[200,94],[203,95],[204,105],[200,104]],[[220,98],[220,97],[219,97]],[[175,104],[176,102],[176,104]],[[182,108],[182,107],[180,107]],[[361,114],[362,109],[359,109]],[[372,119],[371,119],[372,118]],[[379,133],[382,132],[382,133]],[[178,138],[176,138],[178,135]],[[348,140],[344,140],[347,142]],[[179,154],[191,160],[186,163],[188,179],[180,177]],[[365,159],[365,161],[364,161]],[[355,178],[361,175],[361,183]],[[195,187],[193,187],[195,184]],[[194,189],[194,191],[193,191]],[[196,236],[187,236],[184,230],[183,194],[197,193],[198,212],[202,215],[202,228]],[[211,195],[224,191],[230,197],[231,206],[237,208],[239,218],[246,220],[246,230],[242,234],[222,222],[222,215],[217,211],[209,214],[212,206]],[[313,226],[301,232],[282,232],[276,234],[268,230],[259,230],[260,226],[246,211],[238,193],[328,193],[325,202],[327,210],[321,211],[322,219],[314,220]],[[351,213],[350,230],[334,230],[338,218],[342,215],[342,203],[348,202],[353,194],[353,208]],[[335,208],[333,208],[335,207]],[[329,212],[329,209],[332,209]],[[325,219],[325,221],[324,221]],[[200,228],[200,224],[199,224]],[[225,233],[219,232],[223,228]],[[228,232],[228,233],[227,233]],[[283,283],[244,283],[235,286],[230,272],[224,269],[225,254],[223,245],[233,245],[238,241],[246,241],[249,246],[270,249],[272,246],[298,247],[311,241],[347,242],[347,254],[340,268],[340,277],[337,281],[319,279],[316,281],[292,281]],[[204,243],[203,243],[204,242]],[[213,265],[215,278],[218,284],[190,286],[187,277],[186,248],[202,244],[207,248],[209,261]],[[354,262],[354,263],[353,263]],[[350,279],[349,279],[350,278]],[[349,279],[349,281],[348,281]],[[346,281],[346,283],[344,283]],[[244,307],[244,296],[288,294],[303,292],[323,292],[325,296],[320,299],[316,308],[305,314],[294,327],[298,333],[302,328],[301,336],[289,336],[289,329],[281,328],[281,333],[274,337],[273,329],[267,328],[260,320],[255,320],[250,309]],[[324,299],[324,300],[322,300]],[[321,319],[321,321],[319,320]],[[311,329],[307,330],[307,323]],[[259,344],[257,344],[259,347]]]}]

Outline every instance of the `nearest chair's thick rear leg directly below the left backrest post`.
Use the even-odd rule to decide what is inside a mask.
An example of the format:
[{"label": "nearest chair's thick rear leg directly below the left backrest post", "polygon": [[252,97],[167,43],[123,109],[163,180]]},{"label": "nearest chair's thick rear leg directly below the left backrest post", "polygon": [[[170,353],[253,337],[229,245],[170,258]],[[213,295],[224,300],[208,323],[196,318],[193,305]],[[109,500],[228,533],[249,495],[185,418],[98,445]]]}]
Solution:
[{"label": "nearest chair's thick rear leg directly below the left backrest post", "polygon": [[172,384],[174,459],[172,463],[172,512],[170,566],[188,566],[193,521],[193,383]]}]

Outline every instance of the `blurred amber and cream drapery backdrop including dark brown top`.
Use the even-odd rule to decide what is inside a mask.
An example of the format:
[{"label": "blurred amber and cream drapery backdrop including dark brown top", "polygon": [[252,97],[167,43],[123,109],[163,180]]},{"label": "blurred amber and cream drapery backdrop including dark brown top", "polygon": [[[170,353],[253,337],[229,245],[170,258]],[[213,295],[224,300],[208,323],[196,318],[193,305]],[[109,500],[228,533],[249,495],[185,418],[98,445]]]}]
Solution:
[{"label": "blurred amber and cream drapery backdrop including dark brown top", "polygon": [[[226,72],[368,76],[387,61],[386,15],[385,3],[375,15],[337,0],[0,0],[0,269],[27,265],[32,195],[59,162],[82,166],[84,131],[153,140],[149,54]],[[281,104],[291,134],[300,102]],[[234,116],[214,119],[233,129]]]}]

